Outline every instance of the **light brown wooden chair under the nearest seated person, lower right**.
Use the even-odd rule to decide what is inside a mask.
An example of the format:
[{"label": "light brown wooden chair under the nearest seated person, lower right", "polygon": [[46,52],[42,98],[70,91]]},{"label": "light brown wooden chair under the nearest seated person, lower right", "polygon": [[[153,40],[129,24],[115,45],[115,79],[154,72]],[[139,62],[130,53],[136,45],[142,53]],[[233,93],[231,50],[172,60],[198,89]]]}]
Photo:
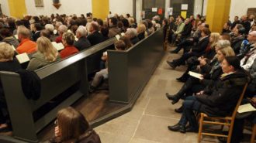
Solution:
[{"label": "light brown wooden chair under the nearest seated person, lower right", "polygon": [[[231,141],[231,135],[234,127],[234,120],[237,114],[238,107],[240,106],[241,101],[244,98],[244,92],[247,88],[247,84],[244,86],[244,90],[242,94],[240,95],[240,98],[237,102],[237,106],[235,107],[232,116],[227,117],[209,117],[207,114],[201,113],[200,114],[200,120],[199,120],[199,136],[198,136],[198,142],[201,142],[202,135],[208,135],[208,136],[214,136],[214,137],[224,137],[227,138],[227,143],[230,143]],[[209,132],[202,132],[202,126],[203,124],[215,124],[215,125],[221,125],[229,127],[228,135],[226,134],[213,134]]]}]

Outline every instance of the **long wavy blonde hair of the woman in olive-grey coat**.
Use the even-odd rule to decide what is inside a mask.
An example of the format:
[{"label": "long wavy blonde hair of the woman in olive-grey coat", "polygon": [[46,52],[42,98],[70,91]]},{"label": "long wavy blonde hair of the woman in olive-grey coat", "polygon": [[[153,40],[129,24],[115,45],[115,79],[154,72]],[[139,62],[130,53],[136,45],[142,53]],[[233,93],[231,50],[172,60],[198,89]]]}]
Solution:
[{"label": "long wavy blonde hair of the woman in olive-grey coat", "polygon": [[57,59],[58,52],[54,48],[53,44],[50,43],[50,40],[47,37],[40,37],[36,41],[37,49],[40,53],[43,53],[45,59],[49,62],[54,62]]}]

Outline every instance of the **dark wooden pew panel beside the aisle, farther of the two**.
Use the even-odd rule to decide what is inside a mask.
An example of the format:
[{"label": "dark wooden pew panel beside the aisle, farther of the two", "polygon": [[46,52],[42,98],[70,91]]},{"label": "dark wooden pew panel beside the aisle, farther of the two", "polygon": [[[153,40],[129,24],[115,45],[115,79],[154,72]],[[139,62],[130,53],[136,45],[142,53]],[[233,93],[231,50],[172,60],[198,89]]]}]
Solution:
[{"label": "dark wooden pew panel beside the aisle, farther of the two", "polygon": [[164,56],[163,39],[159,29],[126,51],[108,50],[110,101],[137,99]]}]

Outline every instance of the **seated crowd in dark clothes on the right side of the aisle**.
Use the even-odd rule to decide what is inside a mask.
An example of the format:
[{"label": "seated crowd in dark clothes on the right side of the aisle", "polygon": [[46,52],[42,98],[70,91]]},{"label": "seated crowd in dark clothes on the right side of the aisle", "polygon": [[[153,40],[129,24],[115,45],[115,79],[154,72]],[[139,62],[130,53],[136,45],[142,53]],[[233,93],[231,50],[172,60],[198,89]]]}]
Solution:
[{"label": "seated crowd in dark clothes on the right side of the aisle", "polygon": [[[249,18],[248,18],[249,17]],[[198,132],[196,114],[225,117],[233,113],[244,86],[247,89],[242,103],[256,104],[256,22],[254,15],[243,15],[239,20],[226,22],[222,33],[210,32],[209,25],[200,15],[194,19],[178,16],[164,24],[165,38],[176,46],[171,53],[183,49],[182,56],[167,61],[171,69],[185,65],[182,77],[184,85],[174,95],[166,93],[171,104],[184,99],[182,107],[175,109],[182,117],[178,124],[168,126],[171,131]],[[199,77],[192,75],[199,73]],[[250,100],[248,100],[251,99]],[[239,115],[239,114],[238,114]],[[244,120],[255,122],[255,113],[235,119],[232,143],[240,142]],[[219,138],[223,141],[223,138]]]}]

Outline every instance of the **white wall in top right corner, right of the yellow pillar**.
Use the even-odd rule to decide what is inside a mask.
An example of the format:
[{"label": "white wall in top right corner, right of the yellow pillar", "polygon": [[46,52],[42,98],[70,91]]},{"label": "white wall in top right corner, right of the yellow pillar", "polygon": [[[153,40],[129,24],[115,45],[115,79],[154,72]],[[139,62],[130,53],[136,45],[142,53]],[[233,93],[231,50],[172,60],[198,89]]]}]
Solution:
[{"label": "white wall in top right corner, right of the yellow pillar", "polygon": [[255,0],[231,0],[230,6],[230,20],[234,21],[234,16],[239,16],[247,14],[248,8],[256,8]]}]

